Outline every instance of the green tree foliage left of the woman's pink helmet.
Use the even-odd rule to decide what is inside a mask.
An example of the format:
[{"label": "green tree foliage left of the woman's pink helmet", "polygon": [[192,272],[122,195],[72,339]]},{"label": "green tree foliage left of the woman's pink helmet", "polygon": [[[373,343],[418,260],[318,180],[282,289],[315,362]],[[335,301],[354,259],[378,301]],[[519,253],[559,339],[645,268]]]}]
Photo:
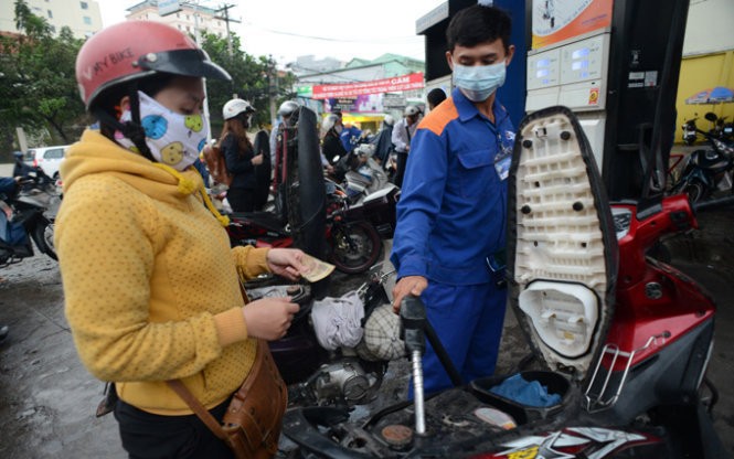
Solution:
[{"label": "green tree foliage left of the woman's pink helmet", "polygon": [[70,143],[84,116],[74,77],[83,40],[68,28],[53,36],[23,0],[15,1],[15,24],[21,34],[0,36],[0,118],[7,128],[45,130],[50,143]]}]

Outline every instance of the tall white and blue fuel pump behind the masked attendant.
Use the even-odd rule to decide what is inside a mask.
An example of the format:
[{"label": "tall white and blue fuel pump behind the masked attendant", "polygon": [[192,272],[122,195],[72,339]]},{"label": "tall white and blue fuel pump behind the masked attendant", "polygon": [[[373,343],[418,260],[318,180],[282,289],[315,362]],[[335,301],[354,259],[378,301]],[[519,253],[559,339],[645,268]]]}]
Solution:
[{"label": "tall white and blue fuel pump behind the masked attendant", "polygon": [[[417,33],[426,36],[426,90],[450,86],[446,26],[474,3],[448,0],[416,22]],[[526,113],[571,108],[609,198],[655,206],[664,190],[676,129],[689,0],[493,3],[512,18],[515,58],[498,97],[515,126]]]}]

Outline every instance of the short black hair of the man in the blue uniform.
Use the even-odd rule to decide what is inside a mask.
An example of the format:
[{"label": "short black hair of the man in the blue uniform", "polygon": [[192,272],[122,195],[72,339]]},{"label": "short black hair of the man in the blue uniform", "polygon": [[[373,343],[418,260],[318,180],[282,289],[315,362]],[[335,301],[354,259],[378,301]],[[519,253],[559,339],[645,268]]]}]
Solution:
[{"label": "short black hair of the man in the blue uniform", "polygon": [[510,46],[512,20],[502,9],[474,4],[460,10],[446,29],[448,51],[456,45],[474,47],[480,43],[491,43],[502,40],[504,51]]}]

